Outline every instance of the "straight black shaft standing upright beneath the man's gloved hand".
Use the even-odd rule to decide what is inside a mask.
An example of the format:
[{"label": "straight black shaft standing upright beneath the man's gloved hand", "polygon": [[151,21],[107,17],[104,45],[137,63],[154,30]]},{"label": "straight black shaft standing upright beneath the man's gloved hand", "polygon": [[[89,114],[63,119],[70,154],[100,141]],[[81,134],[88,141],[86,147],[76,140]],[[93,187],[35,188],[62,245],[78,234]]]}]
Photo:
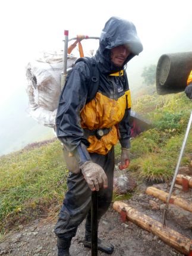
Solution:
[{"label": "straight black shaft standing upright beneath the man's gloved hand", "polygon": [[98,210],[98,196],[97,191],[92,191],[92,256],[97,256],[97,210]]}]

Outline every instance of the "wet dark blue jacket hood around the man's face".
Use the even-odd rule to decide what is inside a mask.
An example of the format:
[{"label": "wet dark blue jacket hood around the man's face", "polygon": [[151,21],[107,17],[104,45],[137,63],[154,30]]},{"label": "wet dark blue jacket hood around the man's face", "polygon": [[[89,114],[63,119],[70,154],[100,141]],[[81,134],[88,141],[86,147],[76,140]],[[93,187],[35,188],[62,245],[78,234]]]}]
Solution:
[{"label": "wet dark blue jacket hood around the man's face", "polygon": [[143,46],[137,36],[136,27],[131,21],[118,17],[111,17],[106,22],[99,39],[95,60],[102,73],[117,72],[123,68],[115,66],[111,61],[110,50],[119,45],[127,45],[131,54],[125,60],[123,66],[135,55],[143,51]]}]

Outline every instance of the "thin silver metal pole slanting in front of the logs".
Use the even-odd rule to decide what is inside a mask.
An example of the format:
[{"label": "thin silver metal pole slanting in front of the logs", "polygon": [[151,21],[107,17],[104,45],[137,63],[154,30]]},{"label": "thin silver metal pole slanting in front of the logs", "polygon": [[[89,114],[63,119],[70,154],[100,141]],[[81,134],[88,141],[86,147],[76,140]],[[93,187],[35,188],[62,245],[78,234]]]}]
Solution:
[{"label": "thin silver metal pole slanting in front of the logs", "polygon": [[169,195],[168,195],[168,198],[166,199],[166,205],[165,205],[165,208],[163,210],[163,226],[166,226],[166,223],[165,223],[166,213],[168,211],[168,206],[169,206],[169,201],[171,199],[172,189],[174,188],[175,180],[176,180],[178,170],[179,170],[179,167],[180,167],[181,157],[182,157],[182,154],[184,152],[185,143],[187,141],[188,133],[190,131],[191,121],[192,121],[192,111],[191,111],[191,115],[190,115],[190,120],[188,121],[188,126],[187,126],[187,130],[186,130],[186,133],[185,133],[185,138],[184,138],[184,141],[182,142],[180,157],[178,159],[177,167],[175,168],[174,178],[172,179],[172,184],[171,184],[171,188],[170,188],[170,191],[169,191]]}]

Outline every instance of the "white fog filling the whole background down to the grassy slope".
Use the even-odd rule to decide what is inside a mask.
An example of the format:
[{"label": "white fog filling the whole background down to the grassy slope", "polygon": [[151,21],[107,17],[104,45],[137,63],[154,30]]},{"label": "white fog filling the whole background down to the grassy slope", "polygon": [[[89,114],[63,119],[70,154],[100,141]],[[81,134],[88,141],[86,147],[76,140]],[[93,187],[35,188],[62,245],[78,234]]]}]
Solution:
[{"label": "white fog filling the whole background down to the grassy slope", "polygon": [[[40,51],[63,49],[65,29],[69,30],[70,38],[77,34],[99,36],[113,15],[133,21],[144,48],[128,64],[128,79],[133,89],[142,86],[140,76],[144,66],[157,64],[160,55],[192,51],[191,1],[7,0],[1,1],[0,10],[0,154],[49,133],[48,128],[43,130],[27,116],[25,66]],[[29,132],[31,129],[33,134]],[[20,145],[13,147],[15,143]]]}]

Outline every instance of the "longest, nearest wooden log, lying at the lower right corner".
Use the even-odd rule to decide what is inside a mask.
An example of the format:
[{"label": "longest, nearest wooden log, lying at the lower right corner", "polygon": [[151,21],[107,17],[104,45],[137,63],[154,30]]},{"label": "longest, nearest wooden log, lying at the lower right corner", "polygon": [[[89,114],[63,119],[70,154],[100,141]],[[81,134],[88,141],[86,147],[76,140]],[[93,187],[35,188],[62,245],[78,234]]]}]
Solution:
[{"label": "longest, nearest wooden log, lying at the lower right corner", "polygon": [[128,220],[132,221],[143,229],[152,232],[154,235],[159,236],[162,241],[168,243],[168,245],[171,245],[182,254],[189,254],[190,245],[192,244],[191,239],[182,236],[175,230],[169,229],[169,227],[163,227],[159,221],[153,220],[153,218],[150,218],[145,214],[141,214],[139,211],[122,201],[114,202],[113,207],[116,211],[118,211],[118,213],[121,213],[122,209],[125,210]]}]

